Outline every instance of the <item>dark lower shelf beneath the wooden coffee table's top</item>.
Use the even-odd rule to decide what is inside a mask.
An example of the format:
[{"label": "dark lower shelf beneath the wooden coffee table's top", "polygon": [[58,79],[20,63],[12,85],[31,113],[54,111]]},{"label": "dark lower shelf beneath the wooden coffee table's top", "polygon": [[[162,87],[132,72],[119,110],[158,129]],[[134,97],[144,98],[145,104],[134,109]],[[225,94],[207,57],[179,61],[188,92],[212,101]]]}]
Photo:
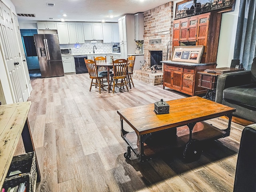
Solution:
[{"label": "dark lower shelf beneath the wooden coffee table's top", "polygon": [[[177,133],[175,136],[173,134],[166,136],[166,130],[163,130],[156,132],[158,134],[156,138],[154,138],[154,133],[138,136],[136,132],[126,132],[123,130],[124,134],[122,135],[122,138],[128,144],[127,152],[124,153],[124,157],[126,159],[130,158],[131,150],[141,162],[151,160],[160,152],[170,152],[174,148],[185,148],[184,152],[187,153],[189,153],[190,150],[192,150],[192,152],[200,153],[200,150],[194,148],[195,146],[191,146],[190,149],[188,149],[188,143],[191,141],[196,141],[196,147],[200,147],[202,146],[202,141],[224,138],[229,136],[230,133],[230,127],[225,130],[220,130],[206,122],[197,122],[195,124],[192,130],[193,139],[190,138],[190,130],[188,126],[185,125],[178,128],[169,128],[167,130],[175,129]],[[161,136],[161,132],[163,132],[163,137]],[[150,140],[150,142],[147,142],[147,138],[150,137],[153,137],[153,139]],[[142,141],[141,145],[140,140]],[[198,155],[200,156],[200,154]]]}]

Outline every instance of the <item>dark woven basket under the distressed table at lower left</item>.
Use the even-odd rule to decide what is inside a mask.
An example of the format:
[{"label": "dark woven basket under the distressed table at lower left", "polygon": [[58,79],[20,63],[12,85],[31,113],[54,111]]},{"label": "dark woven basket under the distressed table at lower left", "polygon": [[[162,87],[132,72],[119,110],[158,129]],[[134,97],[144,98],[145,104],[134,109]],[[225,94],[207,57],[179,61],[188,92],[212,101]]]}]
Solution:
[{"label": "dark woven basket under the distressed table at lower left", "polygon": [[26,191],[34,192],[36,189],[36,156],[34,152],[14,156],[10,164],[3,188],[19,186],[26,182]]}]

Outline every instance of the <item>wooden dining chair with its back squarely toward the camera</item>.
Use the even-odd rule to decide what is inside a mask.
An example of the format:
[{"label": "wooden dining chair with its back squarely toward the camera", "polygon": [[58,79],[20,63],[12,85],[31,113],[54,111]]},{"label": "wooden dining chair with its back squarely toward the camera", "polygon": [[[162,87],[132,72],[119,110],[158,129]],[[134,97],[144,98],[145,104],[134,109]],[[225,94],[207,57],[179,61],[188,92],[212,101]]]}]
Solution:
[{"label": "wooden dining chair with its back squarely toward the camera", "polygon": [[112,62],[113,62],[114,74],[110,74],[110,77],[111,77],[110,86],[111,86],[111,83],[113,82],[113,93],[115,92],[115,87],[120,86],[120,89],[121,89],[122,87],[124,87],[124,85],[126,86],[127,91],[129,91],[127,82],[126,82],[126,76],[128,73],[127,60],[117,59],[117,60],[113,60]]}]

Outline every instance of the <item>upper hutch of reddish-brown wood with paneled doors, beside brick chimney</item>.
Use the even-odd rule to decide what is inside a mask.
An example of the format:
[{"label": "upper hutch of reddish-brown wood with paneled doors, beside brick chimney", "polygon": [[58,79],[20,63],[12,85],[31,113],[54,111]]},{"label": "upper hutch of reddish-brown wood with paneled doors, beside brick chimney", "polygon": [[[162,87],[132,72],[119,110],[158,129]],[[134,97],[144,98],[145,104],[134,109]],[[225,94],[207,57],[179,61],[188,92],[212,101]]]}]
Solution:
[{"label": "upper hutch of reddish-brown wood with paneled doors, beside brick chimney", "polygon": [[216,62],[220,36],[221,13],[209,12],[174,20],[174,46],[203,45],[201,63]]}]

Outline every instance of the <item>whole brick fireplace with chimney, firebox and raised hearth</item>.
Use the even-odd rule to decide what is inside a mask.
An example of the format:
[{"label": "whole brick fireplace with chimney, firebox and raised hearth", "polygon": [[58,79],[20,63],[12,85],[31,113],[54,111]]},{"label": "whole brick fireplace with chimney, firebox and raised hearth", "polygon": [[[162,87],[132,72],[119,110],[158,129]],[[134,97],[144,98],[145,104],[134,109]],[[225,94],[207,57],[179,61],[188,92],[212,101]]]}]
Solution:
[{"label": "whole brick fireplace with chimney, firebox and raised hearth", "polygon": [[[156,60],[170,60],[172,53],[172,25],[173,2],[168,2],[144,12],[144,60],[148,68],[153,65],[151,60],[154,64],[156,64]],[[167,54],[168,44],[170,50]],[[155,54],[156,52],[157,58],[152,59],[152,53]],[[148,84],[160,85],[163,81],[163,73],[162,70],[157,70],[157,73],[151,73],[150,70],[135,70],[133,78]]]}]

